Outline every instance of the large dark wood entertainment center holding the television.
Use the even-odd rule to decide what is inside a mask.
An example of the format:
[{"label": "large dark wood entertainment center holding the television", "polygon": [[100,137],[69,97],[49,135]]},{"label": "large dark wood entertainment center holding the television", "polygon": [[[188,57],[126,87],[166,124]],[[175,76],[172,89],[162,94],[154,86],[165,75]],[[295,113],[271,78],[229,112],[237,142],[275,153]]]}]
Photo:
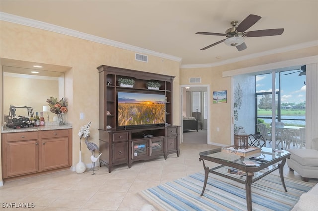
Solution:
[{"label": "large dark wood entertainment center holding the television", "polygon": [[100,166],[105,164],[110,173],[116,165],[130,168],[135,161],[166,159],[172,153],[179,157],[180,126],[173,125],[174,76],[106,65],[97,69]]}]

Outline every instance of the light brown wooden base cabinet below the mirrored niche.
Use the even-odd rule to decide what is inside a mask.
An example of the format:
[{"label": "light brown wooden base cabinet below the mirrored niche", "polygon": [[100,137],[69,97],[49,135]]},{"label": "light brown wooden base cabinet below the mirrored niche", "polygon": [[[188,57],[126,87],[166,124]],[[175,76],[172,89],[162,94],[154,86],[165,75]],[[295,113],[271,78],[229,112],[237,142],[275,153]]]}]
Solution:
[{"label": "light brown wooden base cabinet below the mirrored niche", "polygon": [[72,130],[2,133],[3,179],[36,175],[72,165]]}]

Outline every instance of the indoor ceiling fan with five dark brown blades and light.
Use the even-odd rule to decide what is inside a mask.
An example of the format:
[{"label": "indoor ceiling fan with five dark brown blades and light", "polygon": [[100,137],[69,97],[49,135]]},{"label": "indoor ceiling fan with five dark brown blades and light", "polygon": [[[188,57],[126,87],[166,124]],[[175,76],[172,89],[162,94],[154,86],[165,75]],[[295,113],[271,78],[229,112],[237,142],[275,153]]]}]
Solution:
[{"label": "indoor ceiling fan with five dark brown blades and light", "polygon": [[[216,35],[216,36],[226,36],[227,38],[220,40],[216,43],[213,43],[209,46],[206,46],[200,50],[208,49],[212,46],[215,46],[219,43],[224,43],[228,46],[235,46],[239,51],[247,49],[245,44],[244,37],[264,37],[264,36],[274,36],[274,35],[281,35],[284,32],[284,29],[264,29],[264,30],[256,30],[256,31],[249,31],[245,32],[251,26],[253,26],[259,19],[262,17],[258,15],[248,15],[239,25],[238,21],[232,21],[232,27],[225,31],[224,34],[222,33],[214,33],[214,32],[197,32],[195,34],[200,35]],[[237,26],[238,25],[238,26]]]}]

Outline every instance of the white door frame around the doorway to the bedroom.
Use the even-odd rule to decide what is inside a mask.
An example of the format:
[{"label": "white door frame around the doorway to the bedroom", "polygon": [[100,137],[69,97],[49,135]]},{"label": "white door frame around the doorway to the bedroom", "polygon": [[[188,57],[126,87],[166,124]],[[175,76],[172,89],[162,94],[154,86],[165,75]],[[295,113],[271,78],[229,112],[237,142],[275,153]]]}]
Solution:
[{"label": "white door frame around the doorway to the bedroom", "polygon": [[[181,128],[183,127],[183,121],[182,121],[182,108],[183,108],[183,88],[185,88],[185,87],[205,87],[206,88],[206,90],[207,90],[207,101],[208,101],[208,103],[207,103],[207,105],[208,105],[208,107],[207,107],[207,144],[212,144],[212,143],[210,143],[210,130],[209,130],[209,128],[210,128],[210,85],[209,84],[200,84],[200,85],[198,85],[198,84],[196,84],[196,85],[194,85],[194,84],[186,84],[186,85],[180,85],[180,122],[181,122]],[[180,137],[181,137],[181,139],[180,139],[180,142],[182,143],[183,142],[183,130],[181,129],[180,130]]]}]

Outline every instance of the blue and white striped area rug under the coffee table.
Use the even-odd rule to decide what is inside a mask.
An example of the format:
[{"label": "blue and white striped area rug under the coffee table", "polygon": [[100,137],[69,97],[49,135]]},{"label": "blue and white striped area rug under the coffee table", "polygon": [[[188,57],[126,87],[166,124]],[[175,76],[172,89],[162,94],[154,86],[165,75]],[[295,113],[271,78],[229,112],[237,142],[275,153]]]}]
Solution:
[{"label": "blue and white striped area rug under the coffee table", "polygon": [[[236,175],[237,176],[237,175]],[[158,210],[165,211],[246,211],[245,184],[209,174],[205,192],[200,197],[204,173],[167,182],[140,192]],[[285,178],[288,192],[280,177],[269,174],[252,184],[253,211],[290,211],[301,194],[314,184]]]}]

